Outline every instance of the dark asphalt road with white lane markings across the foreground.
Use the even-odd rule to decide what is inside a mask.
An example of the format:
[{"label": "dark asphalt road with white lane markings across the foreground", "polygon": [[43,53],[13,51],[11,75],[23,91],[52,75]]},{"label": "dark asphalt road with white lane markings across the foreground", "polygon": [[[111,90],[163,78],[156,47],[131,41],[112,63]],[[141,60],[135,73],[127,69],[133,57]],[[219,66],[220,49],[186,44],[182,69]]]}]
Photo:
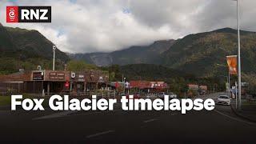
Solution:
[{"label": "dark asphalt road with white lane markings across the foreground", "polygon": [[[207,98],[216,96],[208,95]],[[0,110],[0,141],[33,143],[256,143],[256,123],[212,111]]]}]

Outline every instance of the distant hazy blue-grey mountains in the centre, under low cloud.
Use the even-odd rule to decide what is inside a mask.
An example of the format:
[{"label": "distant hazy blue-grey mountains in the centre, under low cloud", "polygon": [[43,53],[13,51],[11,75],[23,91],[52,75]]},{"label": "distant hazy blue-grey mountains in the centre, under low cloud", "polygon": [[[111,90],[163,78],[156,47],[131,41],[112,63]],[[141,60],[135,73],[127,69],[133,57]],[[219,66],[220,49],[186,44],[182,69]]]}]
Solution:
[{"label": "distant hazy blue-grey mountains in the centre, under low cloud", "polygon": [[139,63],[161,64],[160,55],[174,44],[175,40],[156,41],[150,46],[131,46],[111,53],[70,54],[70,58],[85,60],[97,66],[114,64],[128,65]]}]

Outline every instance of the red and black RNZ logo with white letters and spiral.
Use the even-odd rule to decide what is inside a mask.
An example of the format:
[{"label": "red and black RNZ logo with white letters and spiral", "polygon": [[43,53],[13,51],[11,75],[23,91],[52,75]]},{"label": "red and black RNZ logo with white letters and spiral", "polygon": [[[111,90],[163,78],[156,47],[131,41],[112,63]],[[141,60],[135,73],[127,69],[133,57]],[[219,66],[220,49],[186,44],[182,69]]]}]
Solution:
[{"label": "red and black RNZ logo with white letters and spiral", "polygon": [[51,22],[51,6],[6,6],[6,22]]}]

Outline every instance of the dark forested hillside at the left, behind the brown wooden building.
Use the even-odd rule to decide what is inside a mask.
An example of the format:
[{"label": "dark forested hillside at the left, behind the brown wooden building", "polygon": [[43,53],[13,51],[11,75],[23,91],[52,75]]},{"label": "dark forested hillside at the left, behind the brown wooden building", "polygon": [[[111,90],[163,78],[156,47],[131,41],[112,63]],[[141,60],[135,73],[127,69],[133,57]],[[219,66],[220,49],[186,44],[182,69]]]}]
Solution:
[{"label": "dark forested hillside at the left, behind the brown wooden building", "polygon": [[[37,30],[2,26],[0,23],[0,74],[10,74],[19,69],[34,70],[38,65],[50,69],[53,43]],[[56,50],[56,68],[63,69],[70,58]]]}]

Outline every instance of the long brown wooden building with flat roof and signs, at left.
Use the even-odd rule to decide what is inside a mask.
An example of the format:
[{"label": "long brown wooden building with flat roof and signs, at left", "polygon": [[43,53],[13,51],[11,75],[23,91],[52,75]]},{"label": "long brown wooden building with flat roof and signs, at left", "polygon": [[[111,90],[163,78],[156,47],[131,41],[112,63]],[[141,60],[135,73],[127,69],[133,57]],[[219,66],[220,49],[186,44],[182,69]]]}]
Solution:
[{"label": "long brown wooden building with flat roof and signs, at left", "polygon": [[32,70],[0,75],[0,91],[32,94],[78,94],[106,87],[108,73],[102,70],[71,72]]}]

